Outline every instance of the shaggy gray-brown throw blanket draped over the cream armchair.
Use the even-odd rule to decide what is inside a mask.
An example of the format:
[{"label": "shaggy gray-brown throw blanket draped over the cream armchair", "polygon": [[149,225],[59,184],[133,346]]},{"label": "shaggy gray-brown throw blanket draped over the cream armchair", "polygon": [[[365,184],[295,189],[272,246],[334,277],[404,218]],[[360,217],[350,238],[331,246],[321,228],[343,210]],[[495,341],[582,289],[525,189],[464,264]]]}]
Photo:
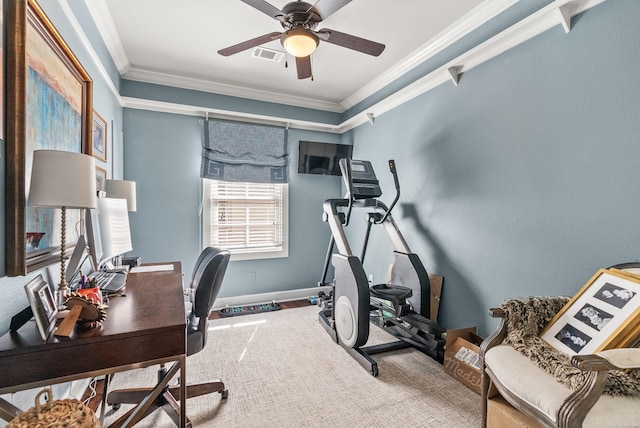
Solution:
[{"label": "shaggy gray-brown throw blanket draped over the cream armchair", "polygon": [[[507,314],[505,343],[529,357],[568,388],[576,390],[584,383],[586,372],[573,367],[569,357],[538,337],[568,301],[568,297],[526,297],[505,300],[500,308]],[[610,371],[604,393],[640,396],[640,370]]]}]

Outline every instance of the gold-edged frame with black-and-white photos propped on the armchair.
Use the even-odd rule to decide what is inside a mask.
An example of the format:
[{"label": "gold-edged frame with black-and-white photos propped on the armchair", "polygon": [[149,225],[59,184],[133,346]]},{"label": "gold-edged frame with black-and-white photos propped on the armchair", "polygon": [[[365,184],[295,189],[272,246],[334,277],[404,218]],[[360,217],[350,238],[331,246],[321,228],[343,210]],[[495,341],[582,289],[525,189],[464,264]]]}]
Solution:
[{"label": "gold-edged frame with black-and-white photos propped on the armchair", "polygon": [[615,347],[640,321],[640,279],[600,269],[556,314],[541,337],[569,356]]}]

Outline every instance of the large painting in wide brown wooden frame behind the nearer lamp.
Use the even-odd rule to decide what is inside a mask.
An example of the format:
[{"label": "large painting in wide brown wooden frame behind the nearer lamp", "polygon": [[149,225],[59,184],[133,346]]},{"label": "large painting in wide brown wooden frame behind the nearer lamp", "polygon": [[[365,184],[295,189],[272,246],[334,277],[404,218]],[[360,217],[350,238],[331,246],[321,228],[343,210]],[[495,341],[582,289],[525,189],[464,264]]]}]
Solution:
[{"label": "large painting in wide brown wooden frame behind the nearer lamp", "polygon": [[[60,259],[62,227],[73,251],[80,210],[27,206],[34,150],[88,153],[93,82],[35,0],[6,10],[6,274],[24,275]],[[34,240],[37,238],[37,243]]]}]

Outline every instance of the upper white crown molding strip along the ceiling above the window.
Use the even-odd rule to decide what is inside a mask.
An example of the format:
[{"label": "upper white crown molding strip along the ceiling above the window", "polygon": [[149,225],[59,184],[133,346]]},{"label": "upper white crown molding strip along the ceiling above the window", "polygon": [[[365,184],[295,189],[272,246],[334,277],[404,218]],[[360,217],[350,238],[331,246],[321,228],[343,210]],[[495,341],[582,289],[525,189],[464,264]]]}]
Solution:
[{"label": "upper white crown molding strip along the ceiling above the window", "polygon": [[342,108],[337,103],[318,101],[295,95],[283,95],[261,89],[245,88],[225,83],[216,83],[208,80],[194,79],[183,76],[175,76],[150,70],[132,68],[124,74],[123,78],[144,83],[156,83],[182,89],[210,92],[220,95],[228,95],[237,98],[265,101],[270,103],[285,104],[296,107],[305,107],[317,110],[342,113]]}]

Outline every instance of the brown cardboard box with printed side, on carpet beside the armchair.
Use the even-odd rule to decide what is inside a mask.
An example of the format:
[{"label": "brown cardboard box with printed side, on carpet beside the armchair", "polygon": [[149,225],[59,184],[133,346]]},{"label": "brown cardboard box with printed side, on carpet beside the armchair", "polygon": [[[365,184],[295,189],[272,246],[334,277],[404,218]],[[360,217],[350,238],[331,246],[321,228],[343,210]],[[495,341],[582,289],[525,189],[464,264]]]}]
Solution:
[{"label": "brown cardboard box with printed side, on carpet beside the armchair", "polygon": [[[476,328],[447,330],[444,347],[444,371],[467,385],[478,394],[482,394],[482,366],[480,363],[480,345],[483,339]],[[493,385],[489,388],[489,397],[496,394]]]}]

